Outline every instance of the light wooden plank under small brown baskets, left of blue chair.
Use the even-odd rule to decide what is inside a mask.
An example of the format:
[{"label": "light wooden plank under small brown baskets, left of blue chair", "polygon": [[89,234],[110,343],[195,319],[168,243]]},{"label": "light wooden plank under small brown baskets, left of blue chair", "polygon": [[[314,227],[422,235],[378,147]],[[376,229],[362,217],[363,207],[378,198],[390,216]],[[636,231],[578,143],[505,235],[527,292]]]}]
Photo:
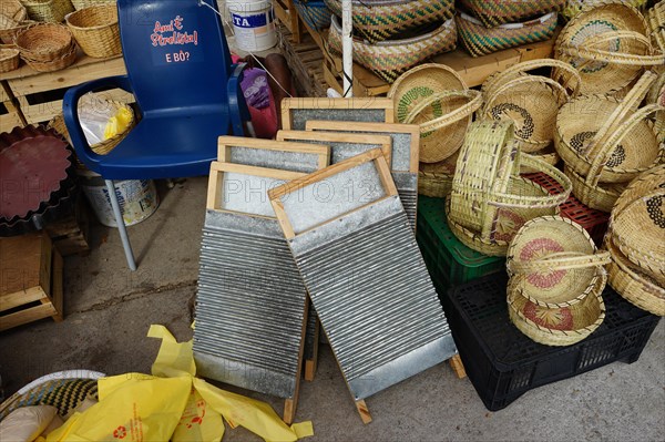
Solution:
[{"label": "light wooden plank under small brown baskets, left of blue chair", "polygon": [[71,88],[90,80],[111,75],[126,74],[122,56],[112,59],[91,59],[82,56],[71,66],[55,72],[35,72],[29,66],[7,73],[11,92],[18,97],[35,92]]}]

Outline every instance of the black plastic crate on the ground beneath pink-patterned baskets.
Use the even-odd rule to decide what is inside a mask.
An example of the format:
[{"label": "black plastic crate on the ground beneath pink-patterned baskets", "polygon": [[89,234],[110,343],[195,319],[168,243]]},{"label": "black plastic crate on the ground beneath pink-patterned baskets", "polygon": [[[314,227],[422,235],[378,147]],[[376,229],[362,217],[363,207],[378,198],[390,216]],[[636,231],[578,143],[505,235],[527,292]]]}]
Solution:
[{"label": "black plastic crate on the ground beneath pink-patterned baskets", "polygon": [[[439,294],[443,282],[434,281]],[[634,307],[610,286],[605,320],[589,338],[550,347],[522,335],[508,317],[505,273],[475,279],[441,296],[464,369],[488,410],[508,407],[526,391],[614,361],[632,363],[659,317]]]}]

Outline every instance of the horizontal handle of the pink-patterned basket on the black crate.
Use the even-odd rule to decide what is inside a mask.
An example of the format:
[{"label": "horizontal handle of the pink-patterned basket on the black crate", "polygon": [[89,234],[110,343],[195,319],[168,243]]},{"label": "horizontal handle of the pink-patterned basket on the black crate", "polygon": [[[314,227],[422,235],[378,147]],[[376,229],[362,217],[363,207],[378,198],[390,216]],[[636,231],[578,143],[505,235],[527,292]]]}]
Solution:
[{"label": "horizontal handle of the pink-patterned basket on the black crate", "polygon": [[510,260],[508,268],[513,274],[535,274],[553,270],[572,270],[576,268],[605,266],[612,260],[608,251],[589,255],[581,251],[555,251],[528,261]]}]

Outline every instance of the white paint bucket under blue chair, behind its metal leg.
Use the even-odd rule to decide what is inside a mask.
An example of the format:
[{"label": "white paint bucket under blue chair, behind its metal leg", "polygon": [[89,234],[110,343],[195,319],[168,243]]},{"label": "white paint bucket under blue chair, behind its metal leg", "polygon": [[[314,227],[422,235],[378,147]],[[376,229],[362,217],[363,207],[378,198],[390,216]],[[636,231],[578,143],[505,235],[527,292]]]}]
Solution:
[{"label": "white paint bucket under blue chair, behind its metal leg", "polygon": [[[104,226],[117,227],[104,179],[88,169],[79,169],[76,173],[81,188],[100,223]],[[124,179],[113,184],[126,226],[147,219],[160,206],[157,189],[152,179]]]}]

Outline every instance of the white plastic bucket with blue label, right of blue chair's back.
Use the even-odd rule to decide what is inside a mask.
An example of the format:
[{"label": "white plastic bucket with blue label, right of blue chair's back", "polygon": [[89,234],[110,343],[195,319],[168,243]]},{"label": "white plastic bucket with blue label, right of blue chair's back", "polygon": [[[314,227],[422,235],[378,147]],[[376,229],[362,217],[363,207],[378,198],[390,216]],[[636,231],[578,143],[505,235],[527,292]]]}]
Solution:
[{"label": "white plastic bucket with blue label, right of blue chair's back", "polygon": [[277,44],[270,0],[229,0],[226,6],[239,50],[265,51]]}]

